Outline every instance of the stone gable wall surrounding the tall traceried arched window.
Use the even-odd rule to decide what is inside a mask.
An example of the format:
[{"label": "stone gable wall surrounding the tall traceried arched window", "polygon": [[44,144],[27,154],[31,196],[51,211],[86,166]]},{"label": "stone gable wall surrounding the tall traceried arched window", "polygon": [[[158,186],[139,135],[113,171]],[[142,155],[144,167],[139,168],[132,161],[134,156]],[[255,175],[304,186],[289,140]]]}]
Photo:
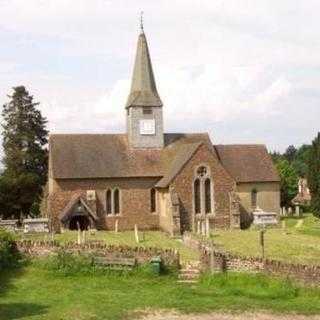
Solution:
[{"label": "stone gable wall surrounding the tall traceried arched window", "polygon": [[181,229],[182,231],[192,230],[193,179],[200,165],[210,167],[213,182],[215,214],[211,220],[211,227],[229,228],[231,221],[230,193],[235,190],[235,181],[209,148],[202,145],[172,183],[180,199]]}]

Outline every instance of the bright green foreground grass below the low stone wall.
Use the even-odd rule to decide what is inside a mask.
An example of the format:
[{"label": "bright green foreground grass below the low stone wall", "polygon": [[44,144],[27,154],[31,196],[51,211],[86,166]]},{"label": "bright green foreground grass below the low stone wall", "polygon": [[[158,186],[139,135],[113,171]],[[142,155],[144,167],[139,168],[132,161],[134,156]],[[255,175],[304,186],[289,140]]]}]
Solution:
[{"label": "bright green foreground grass below the low stone wall", "polygon": [[62,276],[35,263],[0,275],[0,319],[132,319],[145,309],[319,314],[320,290],[260,274],[207,275],[193,286],[143,272]]}]

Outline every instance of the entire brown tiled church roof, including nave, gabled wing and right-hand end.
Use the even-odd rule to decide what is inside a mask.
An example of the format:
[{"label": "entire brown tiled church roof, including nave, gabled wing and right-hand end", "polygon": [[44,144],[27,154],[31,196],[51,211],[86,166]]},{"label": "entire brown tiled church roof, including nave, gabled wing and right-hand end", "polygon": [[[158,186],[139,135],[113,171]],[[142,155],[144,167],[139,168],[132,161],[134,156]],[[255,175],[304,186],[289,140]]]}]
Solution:
[{"label": "entire brown tiled church roof, including nave, gabled wing and right-hand end", "polygon": [[125,134],[54,134],[54,179],[158,177],[167,187],[201,144],[206,144],[237,182],[279,181],[263,145],[211,144],[208,134],[165,134],[163,149],[130,149]]}]

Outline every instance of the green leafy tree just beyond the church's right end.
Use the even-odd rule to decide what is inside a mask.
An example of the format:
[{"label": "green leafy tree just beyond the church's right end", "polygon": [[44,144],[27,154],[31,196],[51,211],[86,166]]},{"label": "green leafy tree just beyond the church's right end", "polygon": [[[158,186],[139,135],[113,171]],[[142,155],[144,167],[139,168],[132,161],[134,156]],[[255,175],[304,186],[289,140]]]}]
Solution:
[{"label": "green leafy tree just beyond the church's right end", "polygon": [[290,206],[298,191],[298,175],[288,160],[277,161],[276,167],[280,176],[281,206]]}]

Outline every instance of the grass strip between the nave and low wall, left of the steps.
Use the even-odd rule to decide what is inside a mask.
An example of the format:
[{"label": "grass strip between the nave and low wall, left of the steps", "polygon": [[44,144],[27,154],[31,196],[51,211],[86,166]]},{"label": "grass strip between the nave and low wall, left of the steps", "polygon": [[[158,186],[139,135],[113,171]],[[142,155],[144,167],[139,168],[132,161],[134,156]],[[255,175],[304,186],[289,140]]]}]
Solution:
[{"label": "grass strip between the nave and low wall, left of the steps", "polygon": [[[51,239],[49,235],[23,235],[23,239],[33,240],[48,240]],[[97,231],[94,234],[87,232],[87,240],[100,240],[110,245],[128,245],[128,246],[140,246],[140,247],[157,247],[162,249],[177,249],[180,253],[182,261],[198,260],[199,253],[196,250],[192,250],[186,247],[181,240],[173,239],[167,236],[164,232],[160,231],[146,231],[139,232],[139,238],[141,241],[136,243],[134,232],[112,232],[112,231]],[[56,234],[55,240],[59,242],[77,241],[76,231],[67,231],[63,234]]]}]

